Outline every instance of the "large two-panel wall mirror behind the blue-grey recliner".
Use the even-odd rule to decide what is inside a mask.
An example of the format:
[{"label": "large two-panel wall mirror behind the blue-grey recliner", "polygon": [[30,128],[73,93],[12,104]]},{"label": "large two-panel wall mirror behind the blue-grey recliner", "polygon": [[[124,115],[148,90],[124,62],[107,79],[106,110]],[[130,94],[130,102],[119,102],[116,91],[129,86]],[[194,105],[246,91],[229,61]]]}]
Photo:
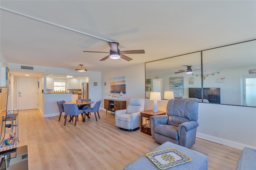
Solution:
[{"label": "large two-panel wall mirror behind the blue-grey recliner", "polygon": [[256,107],[256,40],[147,62],[145,77],[146,98],[173,91],[175,99]]}]

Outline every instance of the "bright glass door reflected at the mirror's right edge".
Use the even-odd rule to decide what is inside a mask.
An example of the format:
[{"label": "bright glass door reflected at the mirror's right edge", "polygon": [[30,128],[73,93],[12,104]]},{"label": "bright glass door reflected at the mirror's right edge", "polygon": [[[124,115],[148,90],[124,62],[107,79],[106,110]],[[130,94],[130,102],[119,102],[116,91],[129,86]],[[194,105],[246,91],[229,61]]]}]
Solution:
[{"label": "bright glass door reflected at the mirror's right edge", "polygon": [[256,75],[243,76],[242,104],[256,107]]}]

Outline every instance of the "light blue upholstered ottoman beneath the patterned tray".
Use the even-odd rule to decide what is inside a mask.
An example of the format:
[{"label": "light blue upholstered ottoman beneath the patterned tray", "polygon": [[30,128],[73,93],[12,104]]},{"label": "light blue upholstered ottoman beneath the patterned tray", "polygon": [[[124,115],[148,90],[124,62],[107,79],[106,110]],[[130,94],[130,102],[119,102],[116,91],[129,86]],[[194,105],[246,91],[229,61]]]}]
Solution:
[{"label": "light blue upholstered ottoman beneath the patterned tray", "polygon": [[[176,165],[166,170],[207,170],[208,166],[208,158],[206,155],[201,154],[200,152],[196,152],[194,150],[188,149],[186,147],[174,144],[172,142],[165,142],[158,146],[156,150],[162,150],[166,148],[175,148],[179,150],[186,156],[191,158],[190,162],[185,162],[184,164]],[[126,165],[124,170],[159,170],[158,167],[146,156],[143,155],[142,157],[138,158],[134,162]]]}]

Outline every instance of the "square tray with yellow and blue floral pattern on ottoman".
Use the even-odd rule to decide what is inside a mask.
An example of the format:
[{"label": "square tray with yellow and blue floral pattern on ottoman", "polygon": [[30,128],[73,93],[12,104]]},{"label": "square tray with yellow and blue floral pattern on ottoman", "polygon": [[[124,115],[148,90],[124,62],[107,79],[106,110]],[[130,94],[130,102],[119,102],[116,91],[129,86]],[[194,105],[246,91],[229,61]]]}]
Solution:
[{"label": "square tray with yellow and blue floral pattern on ottoman", "polygon": [[191,158],[176,150],[175,148],[167,148],[164,150],[157,150],[149,152],[146,156],[159,168],[166,169],[176,165],[189,162]]}]

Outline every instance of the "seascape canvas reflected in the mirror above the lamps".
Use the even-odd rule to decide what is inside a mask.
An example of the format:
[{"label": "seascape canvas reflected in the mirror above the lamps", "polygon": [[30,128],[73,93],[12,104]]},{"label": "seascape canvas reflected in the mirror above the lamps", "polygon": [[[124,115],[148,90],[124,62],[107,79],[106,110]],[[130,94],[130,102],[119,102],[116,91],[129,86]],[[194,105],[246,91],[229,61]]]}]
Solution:
[{"label": "seascape canvas reflected in the mirror above the lamps", "polygon": [[174,96],[184,96],[183,77],[170,77],[170,91],[173,91]]}]

